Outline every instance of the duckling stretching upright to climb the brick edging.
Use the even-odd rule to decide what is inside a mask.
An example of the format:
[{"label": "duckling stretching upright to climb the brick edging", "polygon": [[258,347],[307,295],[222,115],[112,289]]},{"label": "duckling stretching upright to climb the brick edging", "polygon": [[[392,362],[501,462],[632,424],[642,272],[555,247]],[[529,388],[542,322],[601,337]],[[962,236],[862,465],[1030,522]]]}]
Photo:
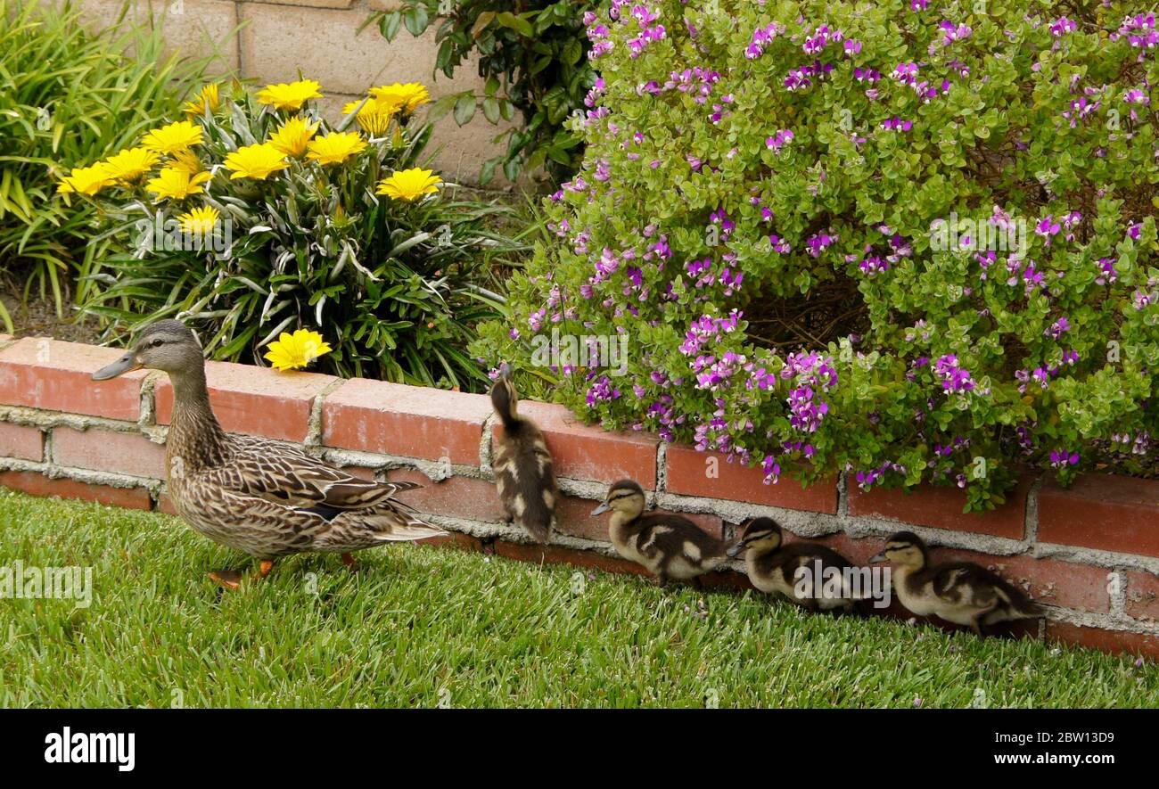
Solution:
[{"label": "duckling stretching upright to climb the brick edging", "polygon": [[495,485],[508,520],[539,542],[547,538],[560,498],[555,466],[544,433],[534,422],[519,416],[519,395],[511,382],[511,367],[500,367],[491,387],[491,406],[503,422],[503,436],[495,443]]}]

